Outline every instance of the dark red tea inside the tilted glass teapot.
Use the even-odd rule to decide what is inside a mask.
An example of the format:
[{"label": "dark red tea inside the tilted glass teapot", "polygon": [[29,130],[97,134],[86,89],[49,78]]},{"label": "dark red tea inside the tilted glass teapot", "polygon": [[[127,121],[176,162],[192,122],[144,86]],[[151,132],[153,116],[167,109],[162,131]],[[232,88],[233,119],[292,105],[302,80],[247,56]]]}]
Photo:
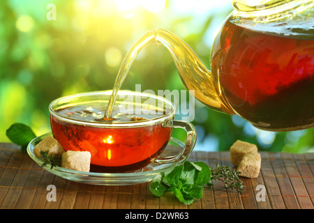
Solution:
[{"label": "dark red tea inside the tilted glass teapot", "polygon": [[225,100],[253,125],[265,130],[313,126],[314,33],[276,36],[227,21],[211,56]]}]

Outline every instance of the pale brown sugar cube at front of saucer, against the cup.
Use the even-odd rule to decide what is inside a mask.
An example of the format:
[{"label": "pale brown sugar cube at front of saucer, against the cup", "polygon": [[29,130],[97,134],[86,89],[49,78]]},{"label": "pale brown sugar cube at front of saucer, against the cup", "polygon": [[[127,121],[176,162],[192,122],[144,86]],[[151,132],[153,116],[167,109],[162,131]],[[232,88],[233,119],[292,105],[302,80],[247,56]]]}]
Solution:
[{"label": "pale brown sugar cube at front of saucer, against the cup", "polygon": [[91,153],[89,151],[66,151],[61,157],[61,167],[89,172]]}]

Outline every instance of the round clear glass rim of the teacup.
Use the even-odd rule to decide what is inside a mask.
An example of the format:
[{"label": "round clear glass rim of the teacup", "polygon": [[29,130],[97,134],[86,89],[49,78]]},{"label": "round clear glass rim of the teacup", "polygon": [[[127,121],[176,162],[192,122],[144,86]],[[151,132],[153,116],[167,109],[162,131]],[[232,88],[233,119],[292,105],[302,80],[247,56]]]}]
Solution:
[{"label": "round clear glass rim of the teacup", "polygon": [[[79,120],[77,118],[69,118],[66,116],[62,116],[60,114],[58,114],[57,112],[55,112],[54,106],[57,105],[58,102],[61,101],[67,101],[67,100],[73,100],[75,98],[79,98],[79,97],[84,97],[84,96],[93,96],[93,95],[108,95],[109,97],[112,94],[112,90],[108,90],[108,91],[89,91],[89,92],[82,92],[82,93],[75,93],[75,94],[71,94],[71,95],[66,95],[66,96],[62,96],[60,98],[57,98],[55,100],[52,100],[52,102],[50,102],[49,105],[49,112],[50,115],[55,116],[57,118],[59,118],[59,120],[61,121],[66,121],[68,123],[73,123],[73,124],[77,124],[77,125],[87,125],[87,126],[91,126],[91,127],[98,127],[98,128],[138,128],[138,127],[144,127],[144,126],[148,126],[148,125],[154,125],[156,123],[163,123],[163,121],[172,118],[174,116],[174,112],[175,112],[175,105],[172,101],[167,100],[166,98],[160,97],[158,95],[154,95],[151,93],[142,93],[142,92],[137,92],[137,91],[129,91],[129,90],[120,90],[118,91],[118,96],[119,95],[133,95],[133,96],[144,96],[146,98],[154,98],[158,101],[162,101],[164,102],[166,105],[170,106],[170,112],[168,112],[167,114],[160,114],[160,116],[156,117],[156,118],[150,118],[147,120],[141,120],[141,121],[127,121],[127,122],[110,122],[110,123],[106,123],[106,122],[95,122],[95,121],[82,121]],[[82,101],[84,102],[84,100]],[[87,100],[88,102],[88,100]],[[65,103],[64,105],[70,105],[71,102],[68,101],[68,103]],[[142,105],[142,103],[141,103]]]}]

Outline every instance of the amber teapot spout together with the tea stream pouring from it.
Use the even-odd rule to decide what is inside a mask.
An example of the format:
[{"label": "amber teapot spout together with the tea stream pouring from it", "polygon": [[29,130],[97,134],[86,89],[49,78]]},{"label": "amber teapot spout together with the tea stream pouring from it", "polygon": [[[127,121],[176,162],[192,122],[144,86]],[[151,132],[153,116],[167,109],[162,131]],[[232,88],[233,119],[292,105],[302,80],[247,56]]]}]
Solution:
[{"label": "amber teapot spout together with the tea stream pouring from it", "polygon": [[112,119],[112,110],[117,98],[117,91],[126,79],[128,70],[140,50],[149,43],[164,45],[172,55],[174,63],[181,77],[182,82],[194,97],[207,107],[223,112],[234,114],[233,110],[225,102],[219,87],[219,79],[211,74],[197,57],[195,52],[178,36],[163,29],[149,31],[133,45],[121,63],[117,79],[114,83],[112,97],[108,102],[104,118]]}]

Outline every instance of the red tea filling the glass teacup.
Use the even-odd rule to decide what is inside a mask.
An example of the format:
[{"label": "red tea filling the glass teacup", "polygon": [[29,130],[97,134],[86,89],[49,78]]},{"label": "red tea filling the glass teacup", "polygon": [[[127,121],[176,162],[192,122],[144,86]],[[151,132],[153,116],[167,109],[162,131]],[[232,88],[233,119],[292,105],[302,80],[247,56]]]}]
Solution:
[{"label": "red tea filling the glass teacup", "polygon": [[[105,105],[106,106],[106,105]],[[66,118],[100,123],[105,107],[101,105],[77,105],[57,110]],[[156,118],[160,114],[124,115],[115,114],[112,123],[136,122]],[[161,123],[134,128],[103,128],[50,116],[55,139],[68,151],[89,151],[91,171],[121,172],[147,166],[151,158],[158,156],[170,139],[172,128],[163,128]]]}]

